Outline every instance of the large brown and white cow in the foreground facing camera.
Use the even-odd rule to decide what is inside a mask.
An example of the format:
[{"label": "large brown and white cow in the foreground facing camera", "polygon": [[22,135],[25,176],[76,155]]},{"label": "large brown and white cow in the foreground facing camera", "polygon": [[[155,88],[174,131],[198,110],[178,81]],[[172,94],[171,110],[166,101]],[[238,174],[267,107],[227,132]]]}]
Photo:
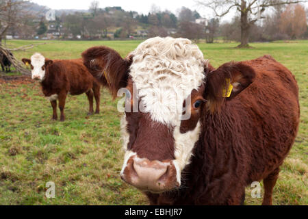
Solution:
[{"label": "large brown and white cow in the foreground facing camera", "polygon": [[298,131],[290,70],[270,55],[215,69],[182,38],[151,38],[126,59],[107,47],[83,57],[94,77],[107,75],[114,95],[129,91],[120,177],[151,204],[240,205],[245,187],[262,179],[263,204],[272,204]]}]

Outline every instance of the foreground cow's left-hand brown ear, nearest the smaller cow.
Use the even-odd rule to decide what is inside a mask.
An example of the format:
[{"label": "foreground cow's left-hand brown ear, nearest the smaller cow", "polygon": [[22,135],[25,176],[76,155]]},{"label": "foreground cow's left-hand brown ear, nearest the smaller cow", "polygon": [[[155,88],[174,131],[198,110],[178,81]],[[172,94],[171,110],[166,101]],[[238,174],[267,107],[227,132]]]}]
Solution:
[{"label": "foreground cow's left-hand brown ear, nearest the smaller cow", "polygon": [[110,89],[114,98],[120,88],[127,86],[131,55],[123,59],[114,49],[103,46],[92,47],[81,55],[90,73]]}]

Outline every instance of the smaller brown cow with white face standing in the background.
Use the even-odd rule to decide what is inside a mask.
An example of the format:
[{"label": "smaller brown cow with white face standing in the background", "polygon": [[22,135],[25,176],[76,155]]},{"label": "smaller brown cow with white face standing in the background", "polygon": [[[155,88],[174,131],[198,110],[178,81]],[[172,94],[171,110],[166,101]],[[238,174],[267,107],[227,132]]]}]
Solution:
[{"label": "smaller brown cow with white face standing in the background", "polygon": [[90,104],[88,115],[93,114],[93,94],[97,102],[95,113],[99,114],[101,84],[94,79],[84,66],[82,59],[49,60],[40,53],[31,56],[31,60],[23,59],[23,63],[31,65],[32,79],[40,81],[44,96],[53,107],[53,120],[57,120],[57,100],[61,111],[60,120],[64,121],[64,106],[67,94],[86,93]]}]

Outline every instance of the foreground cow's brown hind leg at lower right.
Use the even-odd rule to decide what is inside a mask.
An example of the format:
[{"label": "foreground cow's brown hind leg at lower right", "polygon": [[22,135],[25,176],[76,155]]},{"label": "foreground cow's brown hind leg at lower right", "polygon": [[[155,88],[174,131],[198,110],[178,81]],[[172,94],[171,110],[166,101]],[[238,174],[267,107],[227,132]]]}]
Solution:
[{"label": "foreground cow's brown hind leg at lower right", "polygon": [[264,183],[264,198],[262,205],[272,205],[272,190],[278,179],[279,168],[275,169],[263,180]]}]

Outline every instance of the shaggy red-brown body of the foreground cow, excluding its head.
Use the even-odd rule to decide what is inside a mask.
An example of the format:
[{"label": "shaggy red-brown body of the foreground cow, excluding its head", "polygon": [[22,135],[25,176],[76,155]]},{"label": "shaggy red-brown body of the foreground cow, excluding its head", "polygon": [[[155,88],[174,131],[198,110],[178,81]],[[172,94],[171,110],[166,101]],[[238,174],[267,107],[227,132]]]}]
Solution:
[{"label": "shaggy red-brown body of the foreground cow, excluding its head", "polygon": [[147,193],[154,205],[239,205],[253,181],[264,180],[264,205],[272,204],[279,166],[294,143],[299,123],[298,86],[290,70],[271,57],[243,62],[255,81],[221,112],[204,112],[203,131],[185,189]]}]

